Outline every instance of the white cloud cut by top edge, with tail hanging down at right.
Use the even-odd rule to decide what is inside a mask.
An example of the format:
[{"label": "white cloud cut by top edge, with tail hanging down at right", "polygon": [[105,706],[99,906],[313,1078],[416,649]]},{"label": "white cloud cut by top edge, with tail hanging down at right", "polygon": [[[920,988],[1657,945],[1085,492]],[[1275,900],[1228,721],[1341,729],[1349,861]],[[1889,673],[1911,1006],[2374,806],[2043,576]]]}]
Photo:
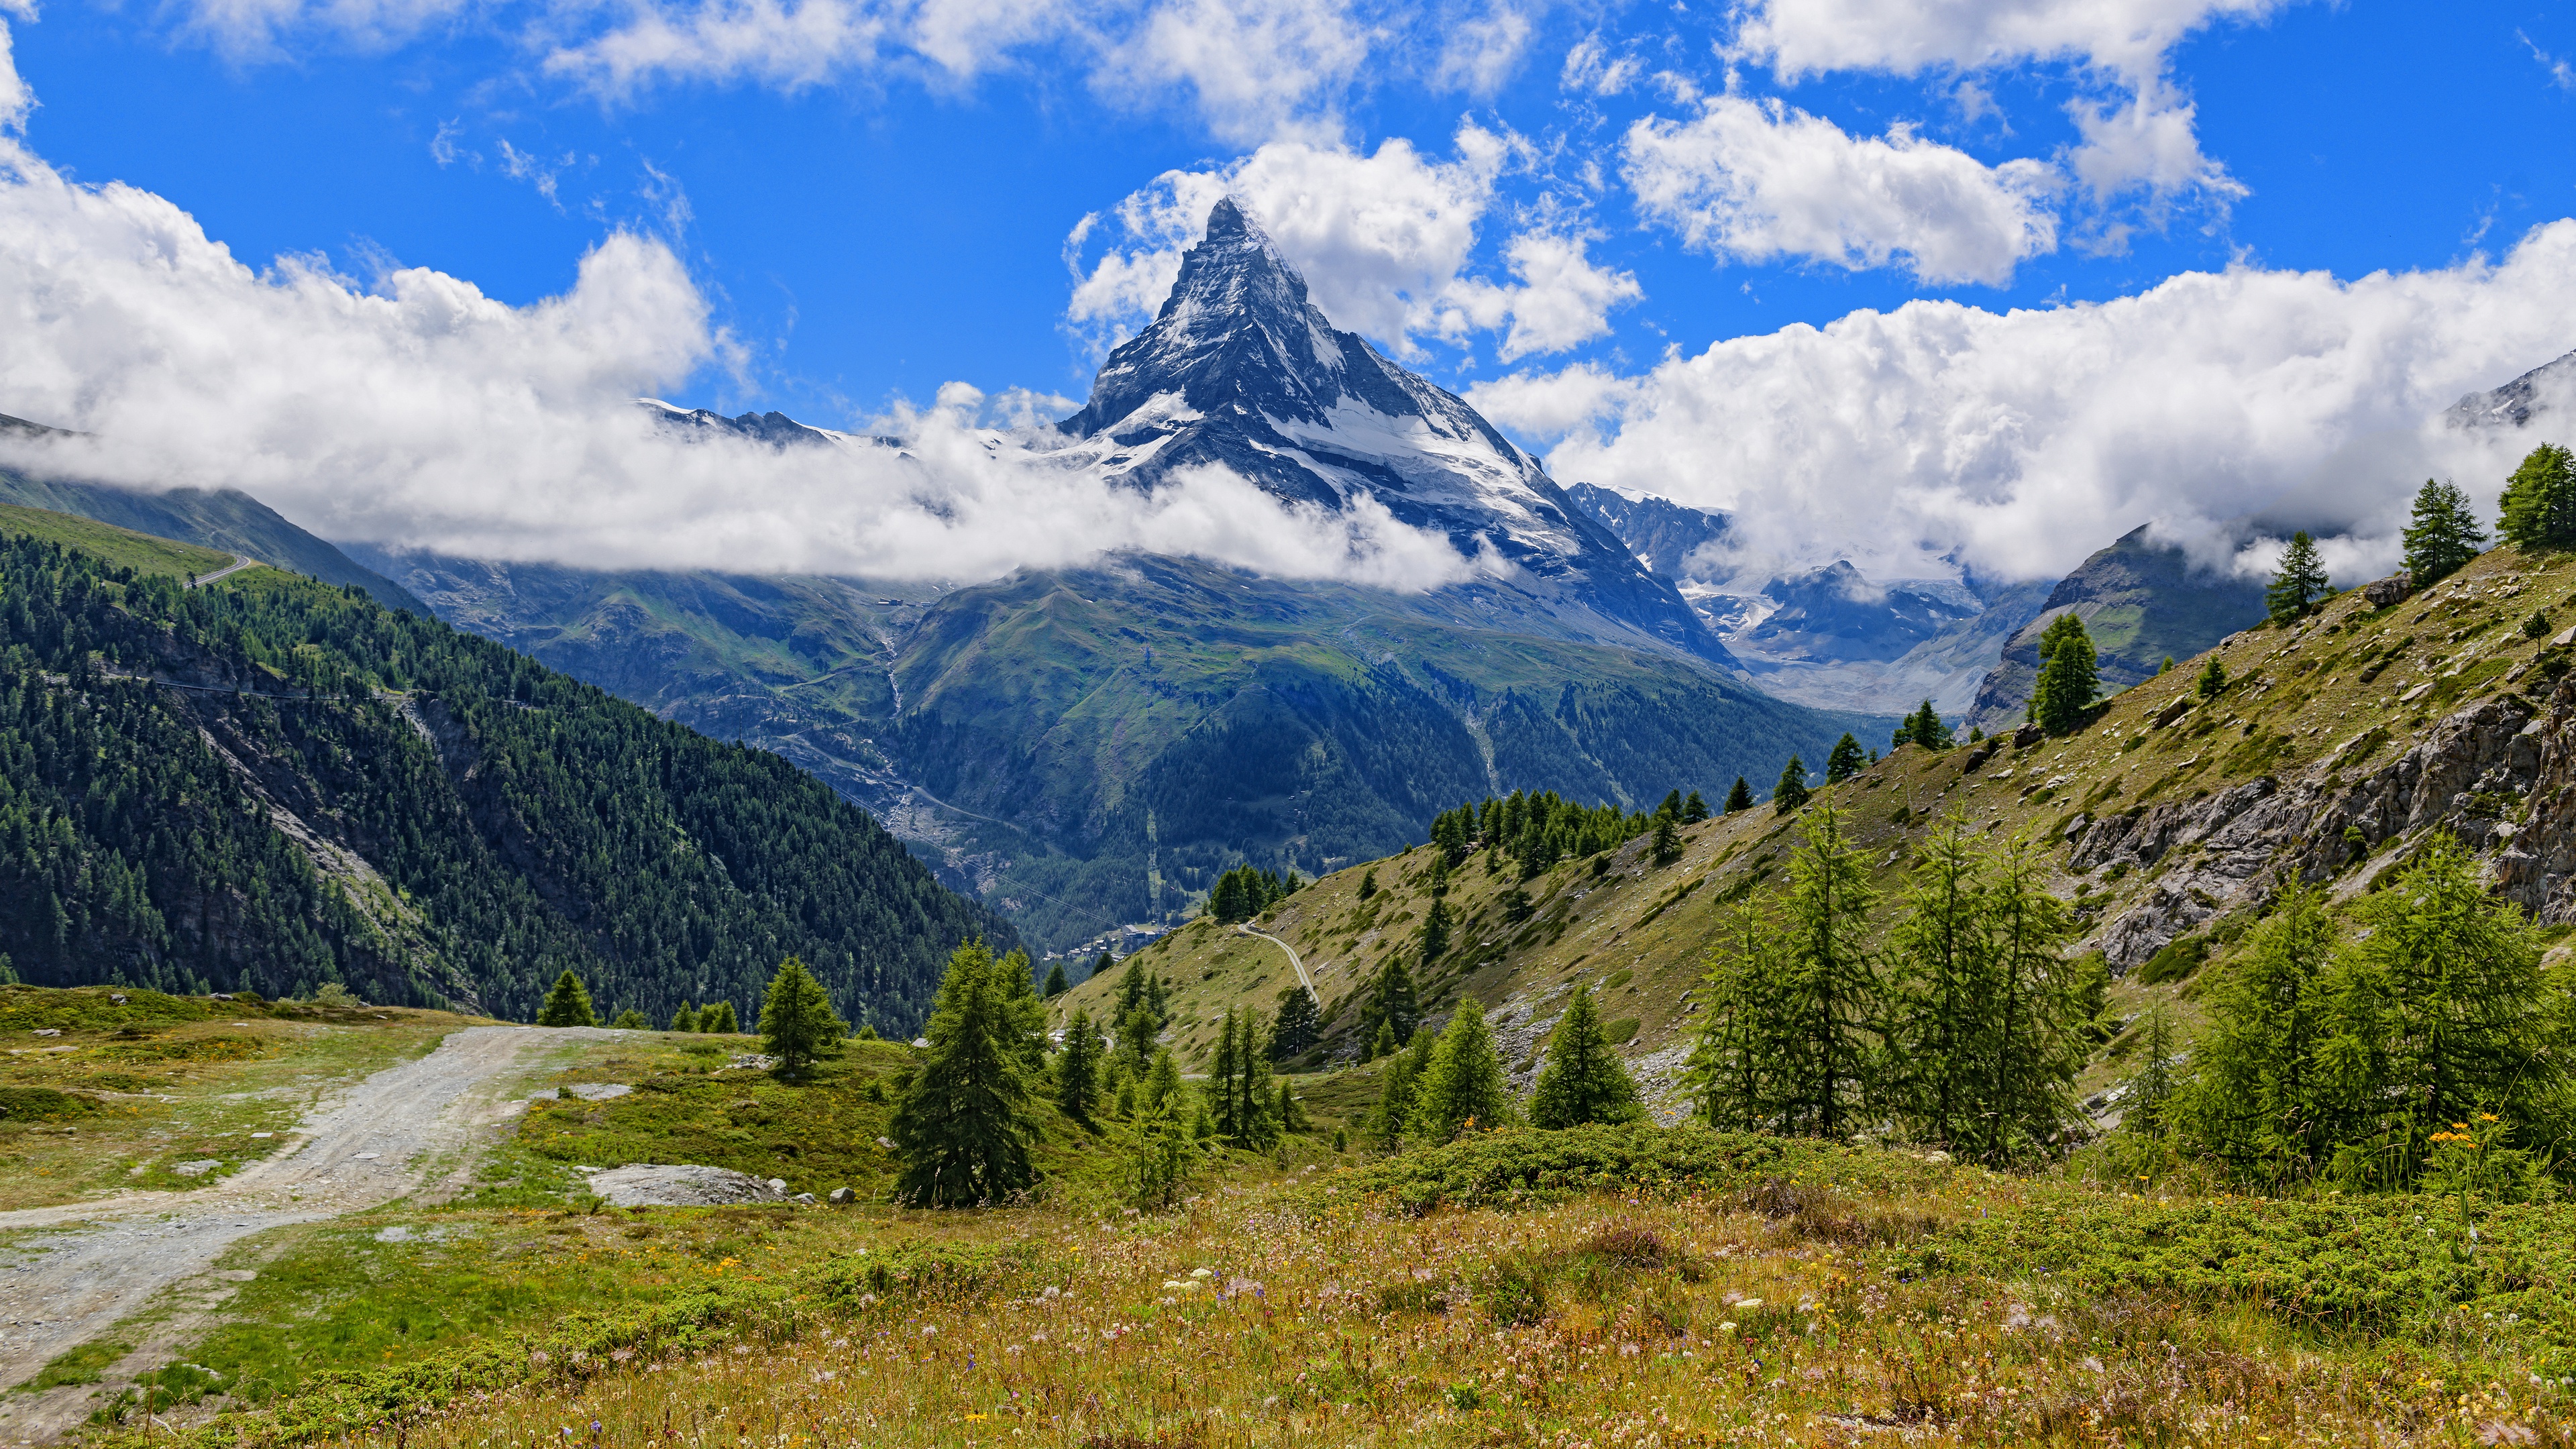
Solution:
[{"label": "white cloud cut by top edge, with tail hanging down at right", "polygon": [[2264,21],[2298,0],[1754,0],[1728,46],[1780,80],[1834,70],[1922,75],[2071,62],[2120,93],[2069,106],[2081,142],[2069,157],[2097,199],[2192,188],[2226,206],[2244,188],[2200,152],[2192,106],[2166,77],[2177,44],[2202,26]]}]

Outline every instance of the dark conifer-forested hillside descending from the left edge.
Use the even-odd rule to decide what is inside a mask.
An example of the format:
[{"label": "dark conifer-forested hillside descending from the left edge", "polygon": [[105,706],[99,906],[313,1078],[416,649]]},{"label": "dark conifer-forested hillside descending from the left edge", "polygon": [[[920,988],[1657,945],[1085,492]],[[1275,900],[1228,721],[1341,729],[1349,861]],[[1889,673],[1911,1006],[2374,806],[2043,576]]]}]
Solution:
[{"label": "dark conifer-forested hillside descending from the left edge", "polygon": [[909,1031],[961,938],[1015,944],[778,755],[276,570],[0,536],[0,951],[44,985],[526,1018],[574,969],[747,1018],[796,954]]}]

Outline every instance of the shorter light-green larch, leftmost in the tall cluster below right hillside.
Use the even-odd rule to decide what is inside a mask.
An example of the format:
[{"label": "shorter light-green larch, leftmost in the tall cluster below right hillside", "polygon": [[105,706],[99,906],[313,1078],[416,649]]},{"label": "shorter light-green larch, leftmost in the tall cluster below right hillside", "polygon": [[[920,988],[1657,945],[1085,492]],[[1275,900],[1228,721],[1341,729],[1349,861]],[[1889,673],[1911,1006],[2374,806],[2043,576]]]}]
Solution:
[{"label": "shorter light-green larch, leftmost in the tall cluster below right hillside", "polygon": [[1700,1029],[1682,1085],[1700,1122],[1770,1132],[1788,1114],[1790,964],[1767,897],[1739,900],[1700,977]]}]

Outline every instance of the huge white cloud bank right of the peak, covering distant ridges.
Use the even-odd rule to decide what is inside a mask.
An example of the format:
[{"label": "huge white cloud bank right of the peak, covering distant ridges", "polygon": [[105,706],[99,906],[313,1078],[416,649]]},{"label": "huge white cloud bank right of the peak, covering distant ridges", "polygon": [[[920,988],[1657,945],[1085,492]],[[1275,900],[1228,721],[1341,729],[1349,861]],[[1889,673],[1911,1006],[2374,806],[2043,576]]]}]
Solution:
[{"label": "huge white cloud bank right of the peak, covering distant ridges", "polygon": [[2561,356],[2571,320],[2576,219],[2501,260],[2231,268],[2027,312],[1909,302],[1473,400],[1564,436],[1558,480],[1734,511],[1754,583],[1837,557],[1873,578],[2048,578],[2138,523],[2218,565],[2249,534],[2347,534],[2352,580],[2393,567],[2427,477],[2494,500],[2537,438],[2439,413]]}]

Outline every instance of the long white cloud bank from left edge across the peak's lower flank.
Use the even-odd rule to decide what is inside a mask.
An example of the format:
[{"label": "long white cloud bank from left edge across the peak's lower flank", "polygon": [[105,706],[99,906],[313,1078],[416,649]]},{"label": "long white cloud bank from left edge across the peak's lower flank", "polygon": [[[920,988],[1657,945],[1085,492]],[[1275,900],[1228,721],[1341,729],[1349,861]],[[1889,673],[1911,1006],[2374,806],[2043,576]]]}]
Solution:
[{"label": "long white cloud bank from left edge across the peak's lower flank", "polygon": [[242,487],[350,541],[951,580],[1121,549],[1386,588],[1479,567],[1373,503],[1283,508],[1221,469],[1146,495],[987,425],[1061,397],[953,384],[871,420],[902,449],[680,438],[634,397],[739,366],[739,348],[683,263],[636,235],[611,235],[569,291],[528,307],[428,268],[371,284],[317,258],[258,271],[170,201],[75,186],[0,139],[0,335],[8,410],[88,433],[10,438],[8,462]]}]

